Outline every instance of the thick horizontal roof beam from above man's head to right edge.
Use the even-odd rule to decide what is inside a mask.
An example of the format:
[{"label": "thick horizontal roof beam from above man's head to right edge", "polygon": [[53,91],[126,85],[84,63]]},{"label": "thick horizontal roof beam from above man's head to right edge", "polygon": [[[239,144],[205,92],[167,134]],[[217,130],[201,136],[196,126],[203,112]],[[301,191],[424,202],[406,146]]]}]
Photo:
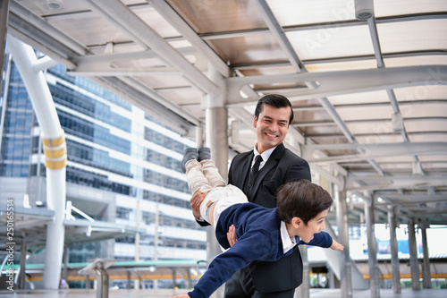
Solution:
[{"label": "thick horizontal roof beam from above man's head to right edge", "polygon": [[323,98],[381,89],[410,86],[447,85],[447,65],[390,67],[342,72],[306,72],[228,78],[228,104],[246,105],[254,98],[240,97],[240,89],[248,84],[298,83],[315,81],[316,89],[287,93],[291,100]]}]

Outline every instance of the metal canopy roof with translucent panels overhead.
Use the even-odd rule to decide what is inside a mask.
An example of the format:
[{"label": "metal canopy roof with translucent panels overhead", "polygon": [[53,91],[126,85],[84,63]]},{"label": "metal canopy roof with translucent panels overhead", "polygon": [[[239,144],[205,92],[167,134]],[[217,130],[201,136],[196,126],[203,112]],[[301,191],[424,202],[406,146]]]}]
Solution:
[{"label": "metal canopy roof with translucent panels overhead", "polygon": [[[51,2],[62,8],[11,1],[8,34],[185,135],[205,125],[203,99],[226,92],[234,151],[256,141],[257,99],[283,94],[286,146],[314,174],[374,198],[376,220],[393,206],[447,224],[447,2],[375,0],[367,21],[353,0]],[[363,203],[350,208],[361,217]]]}]

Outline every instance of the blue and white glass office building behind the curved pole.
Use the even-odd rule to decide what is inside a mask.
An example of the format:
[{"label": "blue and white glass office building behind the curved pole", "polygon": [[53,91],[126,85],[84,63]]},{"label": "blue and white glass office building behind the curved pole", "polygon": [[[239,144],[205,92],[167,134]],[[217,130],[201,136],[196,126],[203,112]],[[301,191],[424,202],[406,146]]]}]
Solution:
[{"label": "blue and white glass office building behind the curved pole", "polygon": [[[17,205],[46,205],[46,167],[37,119],[13,60],[4,66],[0,188]],[[66,200],[97,221],[146,234],[72,244],[70,262],[206,260],[206,230],[190,211],[183,149],[195,147],[154,115],[55,66],[45,73],[67,144]],[[73,212],[74,217],[82,217]],[[136,243],[138,242],[138,243]],[[31,262],[43,258],[32,256]],[[40,258],[40,259],[39,259]]]}]

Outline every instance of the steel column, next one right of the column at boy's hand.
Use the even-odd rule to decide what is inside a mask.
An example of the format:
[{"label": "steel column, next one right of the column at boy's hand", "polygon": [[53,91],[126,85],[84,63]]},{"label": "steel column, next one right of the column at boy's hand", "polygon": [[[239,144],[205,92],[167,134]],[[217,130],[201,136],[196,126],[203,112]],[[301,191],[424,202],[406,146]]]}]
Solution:
[{"label": "steel column, next one right of the column at boy's hand", "polygon": [[379,272],[377,266],[377,251],[375,249],[375,220],[374,220],[374,201],[372,196],[368,196],[369,201],[365,200],[365,219],[367,222],[367,254],[369,267],[369,286],[371,289],[371,298],[380,297]]}]

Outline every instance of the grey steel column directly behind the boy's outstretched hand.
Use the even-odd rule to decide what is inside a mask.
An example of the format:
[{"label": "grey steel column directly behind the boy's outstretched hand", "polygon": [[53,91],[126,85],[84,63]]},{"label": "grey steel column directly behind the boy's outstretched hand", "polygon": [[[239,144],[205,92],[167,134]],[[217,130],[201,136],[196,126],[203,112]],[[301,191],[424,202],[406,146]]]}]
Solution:
[{"label": "grey steel column directly behind the boy's outstretched hand", "polygon": [[340,243],[344,245],[340,258],[342,298],[352,298],[352,277],[350,268],[350,244],[348,234],[348,207],[346,205],[346,192],[338,192],[337,198],[337,226]]}]

